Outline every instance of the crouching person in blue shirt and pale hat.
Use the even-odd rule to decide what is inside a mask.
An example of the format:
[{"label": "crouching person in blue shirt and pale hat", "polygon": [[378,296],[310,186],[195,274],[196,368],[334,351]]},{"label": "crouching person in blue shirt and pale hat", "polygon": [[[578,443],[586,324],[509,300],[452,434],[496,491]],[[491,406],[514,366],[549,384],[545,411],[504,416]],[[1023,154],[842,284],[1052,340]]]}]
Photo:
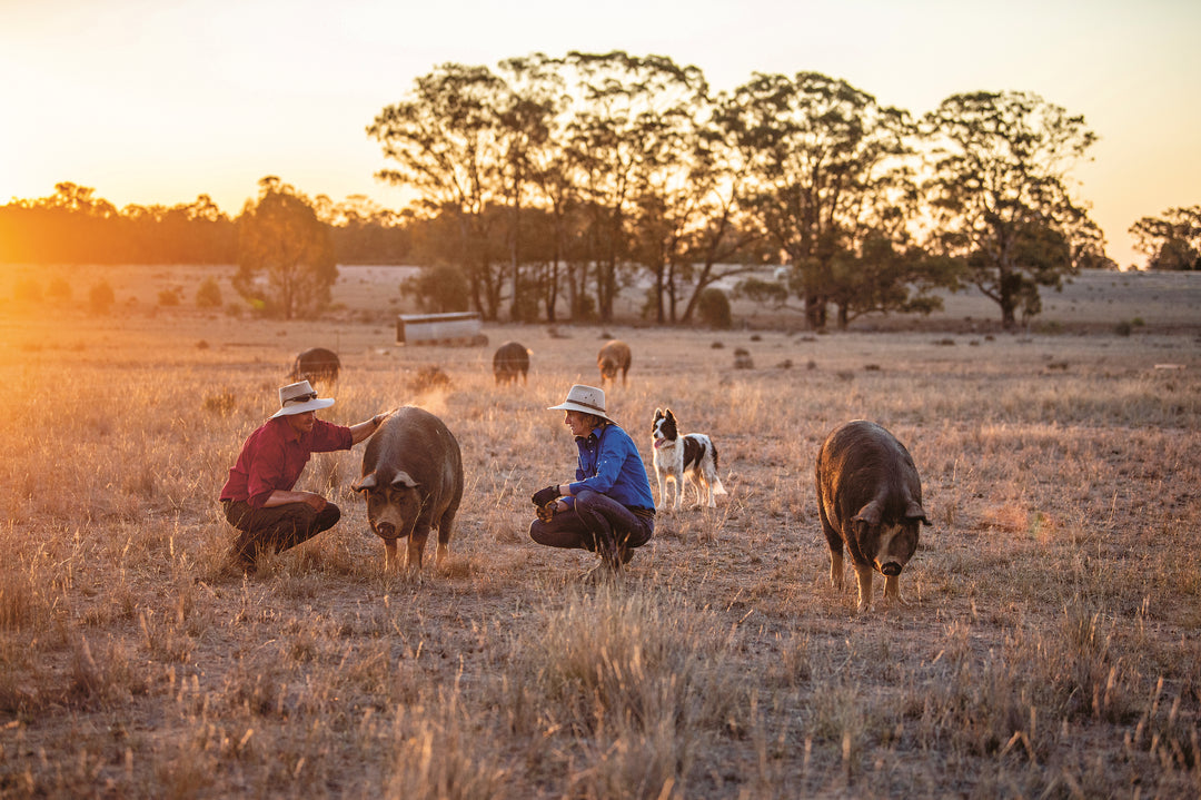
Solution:
[{"label": "crouching person in blue shirt and pale hat", "polygon": [[582,548],[600,556],[586,578],[619,577],[634,549],[655,533],[655,498],[634,441],[605,413],[604,390],[575,384],[563,411],[579,449],[573,483],[539,489],[530,537],[552,548]]}]

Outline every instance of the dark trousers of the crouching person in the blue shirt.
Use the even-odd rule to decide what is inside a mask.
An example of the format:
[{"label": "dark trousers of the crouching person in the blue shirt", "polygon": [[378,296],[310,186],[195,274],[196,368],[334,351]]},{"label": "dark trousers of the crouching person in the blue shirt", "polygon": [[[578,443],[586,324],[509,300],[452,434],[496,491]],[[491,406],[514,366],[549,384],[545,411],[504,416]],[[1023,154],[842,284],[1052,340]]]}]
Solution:
[{"label": "dark trousers of the crouching person in the blue shirt", "polygon": [[[581,548],[602,556],[609,548],[628,551],[655,535],[655,518],[640,515],[613,497],[585,489],[575,495],[572,509],[558,512],[549,523],[530,523],[530,538],[552,548]],[[610,544],[611,543],[611,544]]]}]

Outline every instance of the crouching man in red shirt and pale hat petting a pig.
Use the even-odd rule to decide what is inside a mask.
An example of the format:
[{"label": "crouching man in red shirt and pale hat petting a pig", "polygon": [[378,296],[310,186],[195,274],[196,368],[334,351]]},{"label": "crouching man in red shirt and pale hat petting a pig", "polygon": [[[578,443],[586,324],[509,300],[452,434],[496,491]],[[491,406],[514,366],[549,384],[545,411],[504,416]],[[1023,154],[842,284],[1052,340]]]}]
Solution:
[{"label": "crouching man in red shirt and pale hat petting a pig", "polygon": [[322,495],[293,491],[312,453],[348,450],[376,432],[392,412],[346,428],[317,419],[316,411],[334,405],[318,399],[309,381],[280,388],[280,410],[241,446],[229,479],[221,489],[226,519],[241,531],[233,559],[253,572],[263,550],[287,550],[329,530],[342,512]]}]

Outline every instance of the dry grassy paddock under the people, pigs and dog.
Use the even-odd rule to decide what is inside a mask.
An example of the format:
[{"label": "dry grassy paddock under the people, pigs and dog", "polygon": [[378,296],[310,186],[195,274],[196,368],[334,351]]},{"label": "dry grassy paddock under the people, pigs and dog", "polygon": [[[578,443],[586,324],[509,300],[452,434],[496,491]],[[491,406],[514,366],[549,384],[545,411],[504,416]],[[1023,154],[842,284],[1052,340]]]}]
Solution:
[{"label": "dry grassy paddock under the people, pigs and dog", "polygon": [[[1078,318],[1020,334],[949,304],[908,330],[491,326],[486,347],[405,348],[390,273],[347,271],[319,322],[201,312],[205,274],[114,271],[102,317],[90,277],[73,302],[0,285],[0,796],[1201,794],[1193,276],[1142,306],[1101,276]],[[184,303],[155,305],[155,280]],[[634,352],[609,406],[647,465],[669,406],[713,437],[730,494],[661,513],[626,583],[590,587],[588,554],[526,527],[530,494],[574,470],[545,407],[597,380],[605,334]],[[533,366],[500,390],[509,339]],[[444,568],[429,548],[420,577],[383,574],[348,488],[362,447],[301,478],[337,527],[252,578],[223,568],[217,491],[311,346],[342,357],[323,418],[412,404],[455,432]],[[422,382],[435,366],[448,383]],[[854,418],[909,447],[933,521],[909,604],[867,615],[852,573],[830,586],[813,490]]]}]

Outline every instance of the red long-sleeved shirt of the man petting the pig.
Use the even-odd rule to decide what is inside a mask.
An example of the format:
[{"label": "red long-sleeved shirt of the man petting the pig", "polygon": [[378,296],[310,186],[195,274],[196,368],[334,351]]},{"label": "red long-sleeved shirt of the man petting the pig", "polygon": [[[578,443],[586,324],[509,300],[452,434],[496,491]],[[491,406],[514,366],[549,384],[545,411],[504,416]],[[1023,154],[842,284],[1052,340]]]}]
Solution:
[{"label": "red long-sleeved shirt of the man petting the pig", "polygon": [[262,508],[276,489],[291,491],[312,453],[348,450],[351,429],[313,420],[312,430],[300,436],[283,417],[268,419],[246,438],[221,500],[241,500]]}]

